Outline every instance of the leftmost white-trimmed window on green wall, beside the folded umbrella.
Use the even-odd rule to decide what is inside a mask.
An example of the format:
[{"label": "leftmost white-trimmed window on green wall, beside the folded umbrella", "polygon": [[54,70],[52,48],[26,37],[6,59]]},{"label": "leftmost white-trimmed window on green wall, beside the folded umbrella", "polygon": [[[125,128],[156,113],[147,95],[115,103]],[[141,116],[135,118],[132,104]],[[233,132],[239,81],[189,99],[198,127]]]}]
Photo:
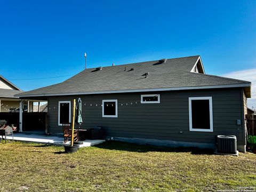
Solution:
[{"label": "leftmost white-trimmed window on green wall, beside the folded umbrella", "polygon": [[58,123],[70,123],[71,122],[71,102],[70,101],[59,101],[58,111]]}]

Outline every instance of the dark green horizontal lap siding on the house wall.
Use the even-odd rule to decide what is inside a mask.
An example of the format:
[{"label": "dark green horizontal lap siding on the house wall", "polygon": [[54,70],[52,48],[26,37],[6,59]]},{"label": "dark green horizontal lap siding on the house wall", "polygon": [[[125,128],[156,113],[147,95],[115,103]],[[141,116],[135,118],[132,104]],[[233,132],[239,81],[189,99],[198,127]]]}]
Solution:
[{"label": "dark green horizontal lap siding on the house wall", "polygon": [[[142,104],[141,94],[161,94],[161,103]],[[214,135],[237,134],[236,119],[243,119],[241,89],[169,91],[150,93],[118,93],[80,95],[83,101],[82,129],[102,126],[109,137],[163,139],[213,143]],[[189,131],[189,97],[212,97],[213,132]],[[49,131],[61,132],[58,126],[58,102],[72,101],[78,96],[49,98]],[[118,117],[102,117],[103,99],[117,99]],[[132,103],[137,101],[137,104]],[[86,105],[84,106],[84,104]],[[92,106],[90,104],[92,103]],[[98,106],[95,106],[98,103]],[[127,103],[127,105],[126,105]],[[203,113],[203,111],[202,111]],[[183,133],[181,134],[180,131]],[[239,129],[238,145],[244,145],[243,129]]]}]

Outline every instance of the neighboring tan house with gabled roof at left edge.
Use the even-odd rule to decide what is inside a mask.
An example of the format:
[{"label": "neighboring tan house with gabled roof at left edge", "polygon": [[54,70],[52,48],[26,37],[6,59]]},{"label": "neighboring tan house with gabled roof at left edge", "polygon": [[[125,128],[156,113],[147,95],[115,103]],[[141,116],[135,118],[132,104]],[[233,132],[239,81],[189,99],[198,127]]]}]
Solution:
[{"label": "neighboring tan house with gabled roof at left edge", "polygon": [[15,94],[23,91],[0,75],[0,112],[19,111],[20,99]]}]

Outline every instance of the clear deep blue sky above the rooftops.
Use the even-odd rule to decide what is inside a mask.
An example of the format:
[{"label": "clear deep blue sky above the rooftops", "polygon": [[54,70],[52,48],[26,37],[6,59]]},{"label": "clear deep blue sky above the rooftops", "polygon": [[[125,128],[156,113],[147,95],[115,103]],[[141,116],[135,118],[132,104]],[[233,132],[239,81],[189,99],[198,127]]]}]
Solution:
[{"label": "clear deep blue sky above the rooftops", "polygon": [[198,54],[207,74],[256,68],[254,0],[0,0],[0,19],[0,74],[25,91],[83,70],[84,52],[89,68]]}]

